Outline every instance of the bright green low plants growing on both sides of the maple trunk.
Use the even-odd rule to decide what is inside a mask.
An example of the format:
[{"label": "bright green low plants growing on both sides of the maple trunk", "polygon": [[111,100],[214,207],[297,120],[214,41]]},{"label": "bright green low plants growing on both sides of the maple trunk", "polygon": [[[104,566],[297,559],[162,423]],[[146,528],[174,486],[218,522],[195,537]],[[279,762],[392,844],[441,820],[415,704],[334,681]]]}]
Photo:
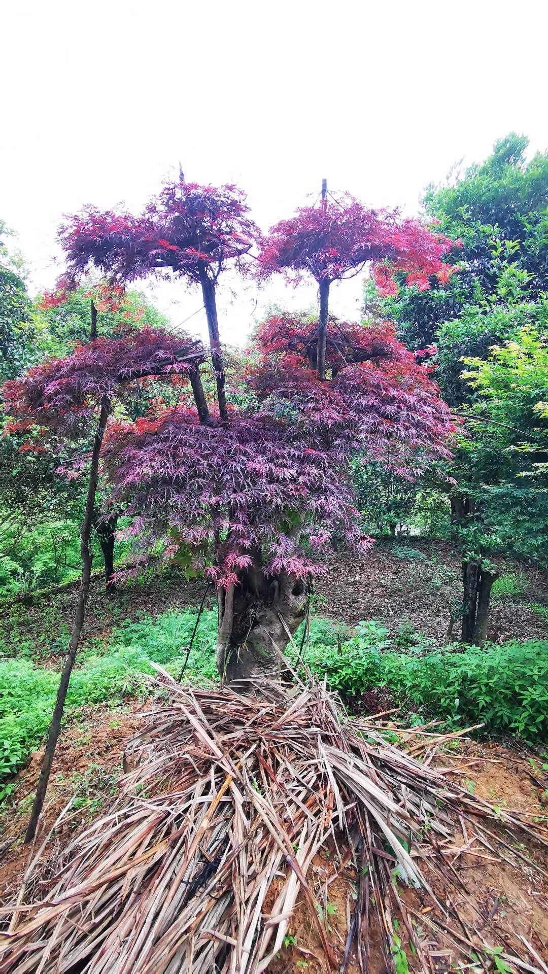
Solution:
[{"label": "bright green low plants growing on both sides of the maple trunk", "polygon": [[[195,608],[170,610],[151,620],[125,622],[106,643],[82,651],[67,698],[67,716],[84,706],[146,695],[152,663],[176,677],[196,625]],[[436,716],[450,727],[484,724],[489,734],[516,733],[529,742],[548,737],[548,641],[508,642],[499,646],[432,645],[406,630],[389,634],[375,621],[352,631],[331,619],[311,618],[289,653],[299,658],[328,688],[352,706],[374,688],[386,688],[404,720]],[[206,609],[183,680],[193,685],[216,679],[216,611]],[[405,636],[405,638],[404,638]],[[302,656],[301,656],[302,652]],[[13,790],[10,778],[36,750],[48,729],[59,681],[57,667],[37,666],[29,658],[0,661],[0,801]]]}]

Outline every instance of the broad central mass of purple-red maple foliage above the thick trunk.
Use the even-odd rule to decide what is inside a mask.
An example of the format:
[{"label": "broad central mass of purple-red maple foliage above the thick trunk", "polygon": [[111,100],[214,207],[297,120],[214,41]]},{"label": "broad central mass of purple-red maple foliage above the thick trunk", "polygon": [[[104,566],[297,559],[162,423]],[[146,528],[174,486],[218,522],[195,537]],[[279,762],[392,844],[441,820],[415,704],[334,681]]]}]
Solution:
[{"label": "broad central mass of purple-red maple foliage above the thick trunk", "polygon": [[308,367],[313,322],[271,318],[247,376],[254,400],[229,425],[168,409],[112,427],[106,463],[114,500],[135,514],[130,534],[150,542],[172,532],[166,554],[183,539],[224,588],[257,563],[267,577],[311,578],[335,529],[367,549],[348,484],[352,458],[383,462],[389,447],[392,468],[413,477],[449,455],[452,425],[428,370],[389,326],[338,327],[344,352],[330,352],[330,382]]}]

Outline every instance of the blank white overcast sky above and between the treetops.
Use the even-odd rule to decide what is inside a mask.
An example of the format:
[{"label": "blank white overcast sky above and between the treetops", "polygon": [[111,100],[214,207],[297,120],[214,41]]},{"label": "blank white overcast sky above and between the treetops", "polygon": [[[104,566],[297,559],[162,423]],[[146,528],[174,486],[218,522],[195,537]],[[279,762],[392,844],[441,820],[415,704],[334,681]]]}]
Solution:
[{"label": "blank white overcast sky above and between the treetops", "polygon": [[[0,216],[32,292],[52,286],[63,213],[140,208],[176,171],[236,182],[263,227],[323,176],[372,206],[416,212],[451,165],[508,131],[548,145],[546,0],[18,0],[1,7]],[[333,311],[355,317],[360,281]],[[148,292],[174,323],[200,307],[182,282]],[[219,295],[243,340],[281,282]],[[202,313],[188,322],[201,329]]]}]

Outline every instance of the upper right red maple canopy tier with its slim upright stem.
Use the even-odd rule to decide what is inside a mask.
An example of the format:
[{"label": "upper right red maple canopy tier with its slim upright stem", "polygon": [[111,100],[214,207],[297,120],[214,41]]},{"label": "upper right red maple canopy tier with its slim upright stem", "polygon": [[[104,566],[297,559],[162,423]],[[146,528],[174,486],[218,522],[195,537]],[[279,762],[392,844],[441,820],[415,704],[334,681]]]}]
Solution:
[{"label": "upper right red maple canopy tier with its slim upright stem", "polygon": [[397,294],[397,272],[419,290],[429,278],[448,281],[455,268],[442,257],[459,242],[430,232],[418,220],[402,219],[397,210],[369,209],[348,194],[328,200],[324,181],[320,206],[302,206],[270,231],[260,252],[261,275],[283,272],[290,281],[311,276],[318,282],[320,316],[308,346],[310,367],[326,377],[330,287],[333,281],[360,274],[369,263],[383,295]]}]

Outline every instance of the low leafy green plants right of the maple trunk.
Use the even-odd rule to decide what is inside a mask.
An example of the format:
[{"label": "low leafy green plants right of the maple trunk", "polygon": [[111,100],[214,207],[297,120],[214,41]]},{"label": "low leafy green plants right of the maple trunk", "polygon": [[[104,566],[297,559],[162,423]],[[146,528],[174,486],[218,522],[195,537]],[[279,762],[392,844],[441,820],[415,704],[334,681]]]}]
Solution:
[{"label": "low leafy green plants right of the maple trunk", "polygon": [[306,656],[348,701],[386,687],[395,703],[454,726],[484,724],[528,741],[548,737],[548,641],[432,650],[426,640],[394,652],[386,630],[360,623],[358,634],[336,648]]}]

